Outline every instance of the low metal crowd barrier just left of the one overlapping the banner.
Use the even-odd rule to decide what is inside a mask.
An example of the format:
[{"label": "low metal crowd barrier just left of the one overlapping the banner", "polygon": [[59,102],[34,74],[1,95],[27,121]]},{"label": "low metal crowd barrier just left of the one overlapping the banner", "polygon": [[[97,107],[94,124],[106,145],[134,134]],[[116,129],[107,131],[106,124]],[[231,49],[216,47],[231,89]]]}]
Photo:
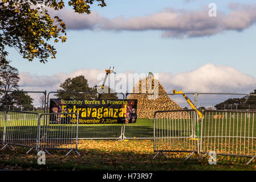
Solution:
[{"label": "low metal crowd barrier just left of the one overlapping the banner", "polygon": [[36,148],[39,114],[6,111],[4,144]]}]

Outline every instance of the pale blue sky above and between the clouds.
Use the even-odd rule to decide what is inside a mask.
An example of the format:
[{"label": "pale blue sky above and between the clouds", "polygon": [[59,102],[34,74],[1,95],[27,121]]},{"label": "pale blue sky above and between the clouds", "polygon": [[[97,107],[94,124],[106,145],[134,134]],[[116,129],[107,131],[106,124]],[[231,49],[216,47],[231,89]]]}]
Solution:
[{"label": "pale blue sky above and between the clouds", "polygon": [[[213,65],[213,68],[216,68],[216,75],[218,75],[218,71],[222,70],[222,66],[227,66],[237,70],[238,73],[234,71],[236,74],[240,74],[241,72],[241,74],[255,78],[256,80],[256,15],[253,14],[254,11],[251,11],[251,19],[246,25],[243,22],[238,22],[239,18],[243,18],[244,11],[229,15],[229,13],[235,11],[229,7],[230,3],[233,3],[233,5],[239,3],[242,6],[256,6],[255,1],[109,0],[106,2],[106,7],[101,8],[94,5],[91,7],[91,15],[83,15],[83,18],[86,18],[86,20],[94,20],[95,17],[100,17],[101,22],[92,22],[93,26],[91,29],[84,28],[84,26],[77,29],[67,29],[67,42],[55,44],[58,51],[56,59],[49,59],[46,64],[39,63],[37,60],[29,63],[29,61],[22,59],[15,50],[8,49],[10,51],[9,59],[12,60],[11,65],[18,68],[21,74],[27,72],[29,73],[29,77],[37,76],[38,81],[43,77],[48,76],[47,78],[50,78],[52,75],[60,73],[66,74],[66,76],[75,75],[79,69],[87,70],[84,73],[88,75],[88,72],[92,69],[103,70],[109,68],[109,66],[115,66],[117,73],[127,71],[147,73],[151,71],[153,73],[168,73],[170,76],[175,77],[182,75],[182,73],[197,72],[201,70],[201,67],[208,69],[209,67],[205,65],[209,64]],[[197,12],[204,12],[204,9],[208,10],[209,3],[216,3],[217,18],[225,19],[227,18],[226,16],[229,18],[229,22],[226,22],[224,30],[219,31],[216,29],[217,33],[210,32],[210,36],[200,35],[190,37],[189,35],[193,30],[187,31],[186,28],[188,27],[183,27],[184,29],[181,27],[178,31],[181,31],[181,34],[185,35],[185,37],[181,38],[179,35],[180,32],[170,30],[168,27],[169,29],[167,29],[172,36],[163,37],[165,27],[162,28],[161,26],[165,26],[165,24],[160,25],[160,28],[156,28],[155,24],[158,23],[158,20],[155,20],[151,24],[151,22],[143,22],[144,19],[141,18],[149,17],[148,19],[150,20],[155,15],[165,12],[165,10],[170,11],[169,13],[175,11],[181,17],[186,17],[184,16],[186,13],[189,16],[196,16],[198,15]],[[242,6],[242,9],[244,8],[245,11],[248,10],[248,7]],[[67,11],[63,12],[65,13]],[[76,17],[74,14],[67,15],[64,13],[62,14],[64,17],[65,15],[66,17],[69,16],[68,18]],[[163,15],[157,17],[166,18]],[[75,18],[73,20],[68,20],[68,18],[67,27],[68,22],[73,23],[72,26],[74,26]],[[115,22],[116,19],[117,23]],[[149,28],[140,27],[139,24],[139,30],[135,30],[133,24],[131,24],[133,19],[136,19],[141,24],[145,23],[145,27]],[[148,21],[148,19],[145,21]],[[104,20],[107,20],[110,25],[108,26],[108,22],[103,22]],[[193,18],[190,20],[192,20],[193,26]],[[208,23],[211,26],[207,22],[208,20],[212,19],[206,19],[202,23]],[[80,26],[79,23],[83,24],[82,18],[79,21],[76,24],[77,26]],[[161,19],[159,21],[161,22]],[[183,22],[182,18],[179,21],[176,23],[185,22],[185,20]],[[188,24],[189,21],[186,23]],[[213,21],[213,23],[217,24],[216,27],[222,26],[222,24],[218,24],[218,21]],[[237,28],[239,23],[243,26],[241,29]],[[87,22],[87,24],[90,23]],[[207,31],[210,30],[205,26],[203,28]],[[200,32],[204,30],[198,28],[196,31]],[[26,77],[22,78],[22,85],[26,87],[26,84],[24,84]],[[200,79],[200,77],[194,77],[194,80],[197,79]],[[216,77],[213,76],[211,79],[209,82],[216,79]],[[226,82],[229,81],[236,83],[237,80],[235,78],[234,80],[226,80]],[[252,82],[254,83],[254,81]],[[182,85],[180,87],[181,89],[185,88]],[[55,87],[48,85],[48,88],[53,89]],[[194,86],[194,88],[196,89],[197,87]],[[256,88],[256,85],[249,87],[247,84],[246,88],[248,90],[244,91],[249,92],[252,88]],[[231,92],[234,88],[230,87],[229,89]],[[204,89],[200,90],[204,91]],[[216,90],[221,91],[221,89]],[[228,89],[224,90],[227,91]]]}]

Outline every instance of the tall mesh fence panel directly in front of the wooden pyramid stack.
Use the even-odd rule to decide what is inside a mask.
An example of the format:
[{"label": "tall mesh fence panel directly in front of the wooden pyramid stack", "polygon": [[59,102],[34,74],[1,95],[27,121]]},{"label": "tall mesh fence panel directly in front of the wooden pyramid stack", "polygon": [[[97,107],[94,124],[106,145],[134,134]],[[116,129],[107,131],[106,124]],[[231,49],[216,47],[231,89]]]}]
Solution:
[{"label": "tall mesh fence panel directly in front of the wooden pyramid stack", "polygon": [[160,90],[159,93],[126,93],[125,98],[138,100],[136,123],[125,125],[126,139],[153,139],[153,117],[159,110],[181,110],[189,107],[182,95],[173,95]]}]

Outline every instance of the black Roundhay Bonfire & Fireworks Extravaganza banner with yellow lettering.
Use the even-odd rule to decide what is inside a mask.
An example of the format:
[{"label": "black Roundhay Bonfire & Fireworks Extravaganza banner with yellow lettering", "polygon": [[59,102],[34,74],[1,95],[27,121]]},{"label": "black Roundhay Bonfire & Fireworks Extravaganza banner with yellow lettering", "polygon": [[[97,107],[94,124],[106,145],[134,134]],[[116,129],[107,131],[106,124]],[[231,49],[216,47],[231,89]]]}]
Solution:
[{"label": "black Roundhay Bonfire & Fireworks Extravaganza banner with yellow lettering", "polygon": [[[137,100],[51,99],[50,113],[78,113],[79,124],[135,123]],[[63,123],[66,117],[69,122],[77,122],[75,114],[55,114],[50,122]]]}]

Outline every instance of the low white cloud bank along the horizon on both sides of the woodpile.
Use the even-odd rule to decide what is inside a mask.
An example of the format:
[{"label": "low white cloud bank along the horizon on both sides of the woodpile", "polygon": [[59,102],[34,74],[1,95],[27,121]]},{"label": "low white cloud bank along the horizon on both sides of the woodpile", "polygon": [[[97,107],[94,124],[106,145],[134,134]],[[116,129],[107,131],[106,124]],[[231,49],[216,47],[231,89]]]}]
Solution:
[{"label": "low white cloud bank along the horizon on both sides of the woodpile", "polygon": [[[129,73],[133,72],[124,72],[124,75],[128,78]],[[60,72],[52,76],[35,76],[23,72],[19,75],[21,77],[19,85],[25,90],[55,91],[66,78],[84,75],[88,79],[88,84],[94,86],[100,84],[97,80],[99,74],[102,81],[105,71],[101,69],[79,69],[70,74]],[[177,75],[161,72],[159,80],[168,92],[176,88],[184,92],[249,93],[256,88],[255,77],[246,75],[233,67],[210,63]]]}]

